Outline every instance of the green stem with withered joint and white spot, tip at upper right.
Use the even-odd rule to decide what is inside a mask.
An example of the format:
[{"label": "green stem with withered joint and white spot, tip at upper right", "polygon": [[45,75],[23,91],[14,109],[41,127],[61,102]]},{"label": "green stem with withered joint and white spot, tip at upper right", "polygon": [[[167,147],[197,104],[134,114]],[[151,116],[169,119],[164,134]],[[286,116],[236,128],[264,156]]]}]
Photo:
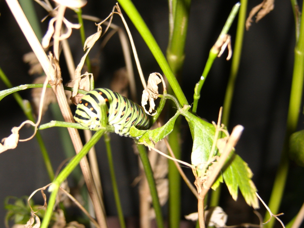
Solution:
[{"label": "green stem with withered joint and white spot, tip at upper right", "polygon": [[[239,11],[239,8],[240,8],[240,3],[237,3],[233,6],[227,20],[226,20],[226,23],[219,35],[219,39],[222,39],[223,35],[224,34],[227,34],[228,33],[228,30],[230,29],[230,26],[235,18],[235,16],[237,15],[237,12]],[[208,57],[208,60],[206,62],[206,66],[204,68],[204,71],[202,73],[202,76],[199,80],[198,83],[196,83],[195,85],[195,88],[194,88],[194,95],[193,95],[193,108],[192,108],[192,113],[196,113],[196,110],[197,110],[197,106],[198,106],[198,102],[199,102],[199,98],[200,98],[200,93],[201,93],[201,89],[202,89],[202,86],[204,85],[204,82],[206,80],[206,77],[210,71],[210,68],[215,60],[215,58],[217,57],[217,55],[219,54],[219,49],[218,48],[215,48],[215,46],[213,46],[209,52],[209,57]]]}]

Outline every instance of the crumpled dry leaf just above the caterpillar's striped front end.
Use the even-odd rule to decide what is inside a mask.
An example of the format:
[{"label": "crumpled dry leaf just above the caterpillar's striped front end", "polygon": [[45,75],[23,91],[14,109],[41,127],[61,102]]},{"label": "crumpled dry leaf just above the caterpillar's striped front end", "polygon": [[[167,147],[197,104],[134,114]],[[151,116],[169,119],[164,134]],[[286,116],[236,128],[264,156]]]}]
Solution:
[{"label": "crumpled dry leaf just above the caterpillar's striped front end", "polygon": [[[85,91],[90,91],[90,77],[93,77],[93,74],[85,72],[80,76],[80,78],[75,79],[68,83],[68,86],[73,87],[73,91],[76,91],[76,95],[73,96],[74,93],[72,93],[72,103],[74,105],[77,105],[81,98],[84,96],[84,94],[77,93],[78,89],[83,89]],[[70,93],[70,92],[68,92]]]}]

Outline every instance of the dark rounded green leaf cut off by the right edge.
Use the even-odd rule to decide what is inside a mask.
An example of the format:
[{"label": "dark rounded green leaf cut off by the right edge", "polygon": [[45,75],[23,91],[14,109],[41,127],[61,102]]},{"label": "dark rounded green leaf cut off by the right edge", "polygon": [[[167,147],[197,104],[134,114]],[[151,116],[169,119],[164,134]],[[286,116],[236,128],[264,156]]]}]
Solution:
[{"label": "dark rounded green leaf cut off by the right edge", "polygon": [[304,167],[304,130],[293,133],[289,138],[289,157]]}]

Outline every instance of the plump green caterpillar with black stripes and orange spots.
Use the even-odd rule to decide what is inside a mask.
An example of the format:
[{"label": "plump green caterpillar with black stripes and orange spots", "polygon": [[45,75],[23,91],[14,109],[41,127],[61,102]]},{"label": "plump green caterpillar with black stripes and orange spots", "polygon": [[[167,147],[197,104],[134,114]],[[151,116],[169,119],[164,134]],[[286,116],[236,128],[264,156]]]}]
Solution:
[{"label": "plump green caterpillar with black stripes and orange spots", "polygon": [[143,108],[117,92],[107,88],[89,91],[78,103],[74,119],[90,130],[101,128],[101,101],[107,106],[108,124],[114,127],[115,133],[130,136],[131,126],[139,130],[149,128],[149,119]]}]

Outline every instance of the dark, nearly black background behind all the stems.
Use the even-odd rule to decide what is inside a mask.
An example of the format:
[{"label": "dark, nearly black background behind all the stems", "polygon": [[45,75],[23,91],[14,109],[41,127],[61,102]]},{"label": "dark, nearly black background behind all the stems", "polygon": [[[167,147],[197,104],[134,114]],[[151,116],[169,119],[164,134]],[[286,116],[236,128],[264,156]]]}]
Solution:
[{"label": "dark, nearly black background behind all the stems", "polygon": [[[167,1],[136,0],[133,2],[165,53],[168,45]],[[248,12],[260,2],[250,1]],[[115,1],[89,1],[83,8],[83,13],[105,18],[115,3]],[[209,50],[215,43],[235,3],[230,0],[192,0],[185,45],[185,64],[180,83],[189,103],[193,102],[194,86],[202,74]],[[38,4],[34,3],[34,5],[39,19],[47,15]],[[29,66],[22,62],[22,55],[31,49],[3,0],[0,1],[0,13],[0,67],[14,86],[32,83],[33,77],[27,73]],[[73,12],[69,10],[67,18],[76,22],[72,15]],[[127,16],[126,20],[133,35],[144,75],[147,77],[152,72],[161,73],[160,67]],[[115,16],[113,22],[123,26],[119,16]],[[43,22],[41,28],[45,32],[47,22]],[[94,23],[85,21],[85,30],[87,36],[95,33]],[[234,22],[229,32],[233,40],[232,45],[234,45],[235,30],[236,23]],[[69,43],[77,65],[83,54],[77,30],[73,30]],[[236,151],[253,171],[254,183],[265,202],[269,200],[285,134],[294,46],[294,19],[289,1],[276,1],[275,9],[259,23],[253,23],[250,30],[244,34],[229,130],[231,131],[232,127],[237,124],[245,127]],[[98,44],[93,49],[90,53],[91,57],[95,57],[98,53]],[[223,105],[231,64],[231,60],[226,61],[226,55],[225,51],[222,57],[215,60],[201,92],[197,113],[209,121],[217,120],[219,107]],[[63,79],[68,81],[63,57],[61,59]],[[117,35],[114,35],[101,52],[100,73],[95,81],[95,87],[109,87],[113,72],[123,66],[124,60],[119,39]],[[139,82],[137,86],[141,91]],[[0,82],[0,89],[6,89],[2,82]],[[21,91],[20,94],[24,99],[31,99],[28,90]],[[11,95],[1,101],[0,107],[0,138],[2,139],[9,136],[10,129],[13,126],[19,126],[26,117]],[[42,123],[51,119],[54,118],[48,111],[43,117]],[[299,130],[303,128],[302,123],[303,115],[300,114]],[[31,134],[30,128],[22,130],[21,138],[26,138]],[[41,134],[49,151],[53,168],[56,170],[65,159],[58,132],[56,129],[49,129],[42,131]],[[190,162],[192,145],[188,142],[191,141],[191,135],[185,121],[182,124],[182,138],[184,141],[182,145],[183,160]],[[131,187],[131,183],[138,174],[138,168],[137,157],[132,152],[132,140],[115,134],[111,135],[111,140],[124,214],[125,216],[137,216],[137,187]],[[116,215],[116,209],[103,144],[103,141],[100,140],[97,145],[97,155],[100,161],[107,213],[109,216],[113,216]],[[54,145],[56,145],[55,148]],[[185,172],[191,181],[194,181],[192,171],[185,169]],[[285,213],[281,217],[284,223],[288,223],[302,205],[304,199],[302,177],[303,169],[292,162],[282,207],[279,210],[279,212]],[[0,154],[0,226],[3,226],[5,216],[5,210],[1,205],[6,196],[30,195],[35,189],[48,182],[49,178],[35,138],[29,142],[21,142],[16,149]],[[182,215],[195,212],[197,203],[186,186],[183,186],[182,194]],[[223,186],[221,206],[229,214],[228,223],[230,225],[252,222],[253,217],[255,219],[252,209],[245,205],[241,196],[239,198],[238,202],[234,202],[227,192],[226,186]],[[36,196],[34,199],[37,203],[42,203],[40,196]],[[261,209],[260,212],[264,215],[264,209]]]}]

